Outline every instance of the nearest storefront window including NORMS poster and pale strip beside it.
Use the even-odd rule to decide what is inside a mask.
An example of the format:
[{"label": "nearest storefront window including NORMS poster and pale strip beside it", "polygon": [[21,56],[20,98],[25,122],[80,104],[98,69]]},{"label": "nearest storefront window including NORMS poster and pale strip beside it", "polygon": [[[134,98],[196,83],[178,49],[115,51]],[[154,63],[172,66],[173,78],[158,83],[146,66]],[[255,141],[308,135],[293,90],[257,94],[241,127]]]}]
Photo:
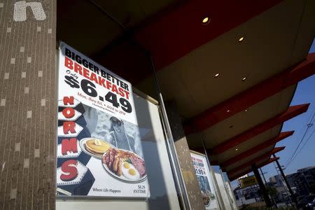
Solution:
[{"label": "nearest storefront window including NORMS poster and pale strip beside it", "polygon": [[179,209],[158,102],[63,42],[58,81],[57,209]]}]

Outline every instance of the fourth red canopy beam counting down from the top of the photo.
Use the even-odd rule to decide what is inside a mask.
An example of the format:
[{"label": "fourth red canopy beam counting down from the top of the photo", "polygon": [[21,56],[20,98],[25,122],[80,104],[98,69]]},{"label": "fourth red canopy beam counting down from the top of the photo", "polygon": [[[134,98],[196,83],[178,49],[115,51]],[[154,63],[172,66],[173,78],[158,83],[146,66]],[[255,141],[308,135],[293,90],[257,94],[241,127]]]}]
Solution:
[{"label": "fourth red canopy beam counting down from the top of the photo", "polygon": [[262,144],[259,144],[258,146],[255,146],[253,148],[250,148],[248,151],[244,151],[244,153],[241,153],[239,155],[236,155],[233,158],[230,158],[229,160],[225,160],[220,164],[222,168],[228,167],[229,165],[232,165],[235,162],[238,162],[240,160],[243,160],[245,158],[250,157],[251,155],[258,153],[264,148],[267,148],[268,146],[272,146],[273,144],[276,144],[277,142],[286,139],[287,137],[290,137],[294,131],[289,131],[289,132],[281,132],[278,137],[269,139],[268,141],[265,141]]}]

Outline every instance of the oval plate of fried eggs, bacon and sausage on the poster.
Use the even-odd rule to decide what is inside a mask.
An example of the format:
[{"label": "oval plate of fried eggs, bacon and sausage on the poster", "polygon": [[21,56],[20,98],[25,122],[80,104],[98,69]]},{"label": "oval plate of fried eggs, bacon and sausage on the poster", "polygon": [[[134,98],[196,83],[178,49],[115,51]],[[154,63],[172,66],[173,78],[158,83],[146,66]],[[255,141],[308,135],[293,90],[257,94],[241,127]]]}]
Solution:
[{"label": "oval plate of fried eggs, bacon and sausage on the poster", "polygon": [[147,178],[144,159],[130,151],[109,148],[102,157],[102,165],[106,172],[121,181],[138,183]]}]

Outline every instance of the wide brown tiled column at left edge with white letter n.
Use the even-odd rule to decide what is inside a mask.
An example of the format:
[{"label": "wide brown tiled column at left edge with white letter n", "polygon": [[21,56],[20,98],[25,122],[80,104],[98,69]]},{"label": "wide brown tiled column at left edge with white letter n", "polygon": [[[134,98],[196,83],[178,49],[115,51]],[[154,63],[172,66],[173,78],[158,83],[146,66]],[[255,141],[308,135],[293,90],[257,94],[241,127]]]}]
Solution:
[{"label": "wide brown tiled column at left edge with white letter n", "polygon": [[56,1],[0,1],[0,209],[55,209]]}]

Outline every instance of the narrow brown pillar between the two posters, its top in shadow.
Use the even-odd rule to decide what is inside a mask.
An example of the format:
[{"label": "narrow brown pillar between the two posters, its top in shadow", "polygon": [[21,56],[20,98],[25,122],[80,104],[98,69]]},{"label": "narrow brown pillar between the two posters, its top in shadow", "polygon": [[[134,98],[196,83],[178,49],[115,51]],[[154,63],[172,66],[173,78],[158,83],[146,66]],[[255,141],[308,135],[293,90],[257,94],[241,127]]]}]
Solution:
[{"label": "narrow brown pillar between the two posters, its top in shadow", "polygon": [[169,125],[172,128],[176,153],[179,158],[181,174],[183,174],[183,181],[188,194],[188,202],[190,203],[191,209],[204,209],[202,194],[195,174],[195,168],[191,161],[187,139],[176,104],[174,102],[168,102],[166,104],[166,109]]}]

